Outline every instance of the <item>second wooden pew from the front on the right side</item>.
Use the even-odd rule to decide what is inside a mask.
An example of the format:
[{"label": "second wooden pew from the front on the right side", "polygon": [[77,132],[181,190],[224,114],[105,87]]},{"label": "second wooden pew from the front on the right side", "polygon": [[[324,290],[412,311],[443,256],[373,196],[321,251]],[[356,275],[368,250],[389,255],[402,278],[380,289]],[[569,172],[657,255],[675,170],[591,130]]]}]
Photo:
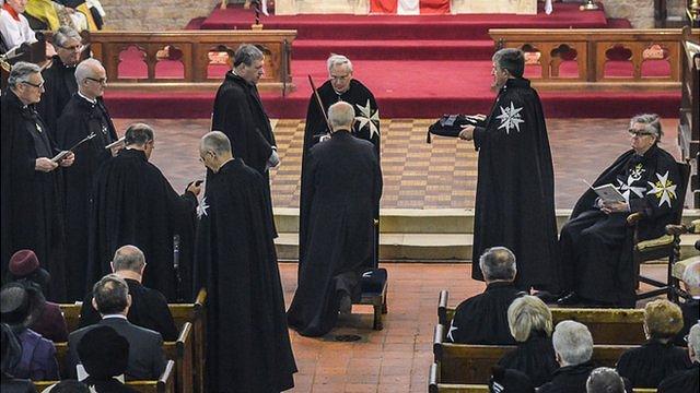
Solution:
[{"label": "second wooden pew from the front on the right side", "polygon": [[[467,345],[444,343],[445,326],[438,324],[433,335],[433,355],[438,364],[440,381],[446,383],[486,383],[495,366],[511,345]],[[628,345],[596,345],[592,360],[596,366],[615,367]]]}]

